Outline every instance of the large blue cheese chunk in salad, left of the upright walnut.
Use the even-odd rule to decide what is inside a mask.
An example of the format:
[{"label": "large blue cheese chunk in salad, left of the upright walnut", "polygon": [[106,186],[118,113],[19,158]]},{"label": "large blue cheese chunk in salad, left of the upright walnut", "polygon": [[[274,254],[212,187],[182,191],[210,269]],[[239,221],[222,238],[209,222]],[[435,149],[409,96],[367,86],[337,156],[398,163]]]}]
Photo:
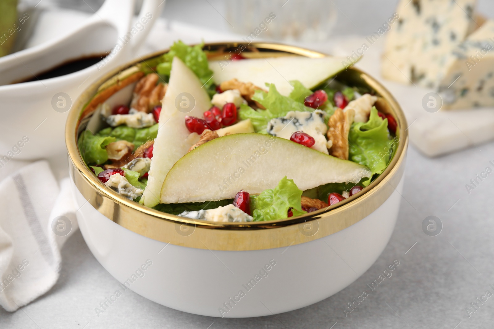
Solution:
[{"label": "large blue cheese chunk in salad, left of the upright walnut", "polygon": [[289,140],[296,131],[302,131],[314,138],[316,143],[311,147],[329,154],[325,137],[328,127],[324,122],[326,113],[322,110],[314,112],[290,111],[284,117],[274,118],[268,122],[267,132],[270,135]]}]

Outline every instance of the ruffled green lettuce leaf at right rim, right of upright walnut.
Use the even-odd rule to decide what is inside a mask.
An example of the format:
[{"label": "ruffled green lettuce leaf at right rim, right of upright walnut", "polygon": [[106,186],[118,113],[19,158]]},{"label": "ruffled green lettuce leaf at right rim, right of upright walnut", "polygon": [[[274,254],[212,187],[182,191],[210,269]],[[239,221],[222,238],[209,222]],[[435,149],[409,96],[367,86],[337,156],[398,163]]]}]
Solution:
[{"label": "ruffled green lettuce leaf at right rim, right of upright walnut", "polygon": [[391,159],[394,142],[389,138],[388,119],[383,120],[375,107],[367,122],[352,124],[348,142],[350,160],[366,166],[372,174],[382,173]]}]

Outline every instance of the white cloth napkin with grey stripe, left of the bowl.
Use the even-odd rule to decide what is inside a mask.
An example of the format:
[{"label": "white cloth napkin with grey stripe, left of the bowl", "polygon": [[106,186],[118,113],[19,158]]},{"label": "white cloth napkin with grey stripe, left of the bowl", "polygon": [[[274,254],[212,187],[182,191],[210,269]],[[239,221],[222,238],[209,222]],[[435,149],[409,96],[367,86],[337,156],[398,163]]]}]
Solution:
[{"label": "white cloth napkin with grey stripe, left of the bowl", "polygon": [[48,162],[29,164],[0,183],[0,305],[15,311],[58,280],[60,248],[78,228],[68,178]]}]

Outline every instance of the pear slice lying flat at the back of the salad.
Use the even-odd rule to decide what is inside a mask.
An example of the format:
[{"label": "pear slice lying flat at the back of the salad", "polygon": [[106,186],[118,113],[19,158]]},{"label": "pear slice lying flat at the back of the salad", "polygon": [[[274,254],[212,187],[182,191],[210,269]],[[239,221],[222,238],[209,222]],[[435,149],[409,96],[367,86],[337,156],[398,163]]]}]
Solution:
[{"label": "pear slice lying flat at the back of the salad", "polygon": [[213,79],[216,84],[233,78],[242,82],[252,82],[261,88],[264,88],[266,83],[274,83],[280,94],[288,96],[293,89],[288,81],[298,80],[311,89],[359,59],[360,57],[356,60],[344,57],[266,57],[231,62],[211,61],[209,69],[214,72]]}]

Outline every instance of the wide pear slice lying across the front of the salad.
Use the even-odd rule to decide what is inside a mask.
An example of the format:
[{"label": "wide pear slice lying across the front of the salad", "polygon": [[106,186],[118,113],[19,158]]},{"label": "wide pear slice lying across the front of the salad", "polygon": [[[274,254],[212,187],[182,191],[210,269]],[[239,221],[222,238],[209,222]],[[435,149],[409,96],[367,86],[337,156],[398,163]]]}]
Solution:
[{"label": "wide pear slice lying across the front of the salad", "polygon": [[358,183],[366,167],[265,134],[227,135],[177,161],[166,175],[161,203],[217,201],[241,189],[260,194],[287,176],[307,190],[326,183]]}]

